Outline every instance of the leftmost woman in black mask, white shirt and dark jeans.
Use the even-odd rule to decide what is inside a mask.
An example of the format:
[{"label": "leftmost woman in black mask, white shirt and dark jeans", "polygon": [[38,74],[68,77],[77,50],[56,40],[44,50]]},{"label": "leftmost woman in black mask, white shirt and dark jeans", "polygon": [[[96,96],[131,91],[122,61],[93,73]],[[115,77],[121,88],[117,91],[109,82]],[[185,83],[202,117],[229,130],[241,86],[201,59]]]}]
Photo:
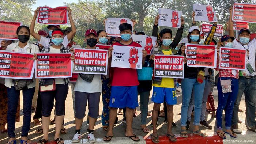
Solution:
[{"label": "leftmost woman in black mask, white shirt and dark jeans", "polygon": [[[19,41],[16,43],[12,43],[7,46],[6,50],[11,52],[21,52],[21,53],[37,53],[39,52],[39,48],[36,45],[30,44],[29,37],[30,31],[27,26],[19,26],[16,31],[16,36]],[[7,125],[8,125],[8,135],[10,139],[8,143],[16,143],[15,140],[15,114],[17,112],[17,106],[20,96],[20,90],[16,90],[14,87],[13,80],[17,79],[7,79],[5,78],[5,86],[7,87],[7,97],[8,97],[8,112],[7,112]],[[26,80],[24,88],[22,88],[23,95],[23,125],[22,125],[22,134],[20,143],[30,143],[30,140],[27,138],[28,132],[30,130],[30,121],[31,121],[31,106],[32,99],[35,92],[35,78],[32,80]]]}]

